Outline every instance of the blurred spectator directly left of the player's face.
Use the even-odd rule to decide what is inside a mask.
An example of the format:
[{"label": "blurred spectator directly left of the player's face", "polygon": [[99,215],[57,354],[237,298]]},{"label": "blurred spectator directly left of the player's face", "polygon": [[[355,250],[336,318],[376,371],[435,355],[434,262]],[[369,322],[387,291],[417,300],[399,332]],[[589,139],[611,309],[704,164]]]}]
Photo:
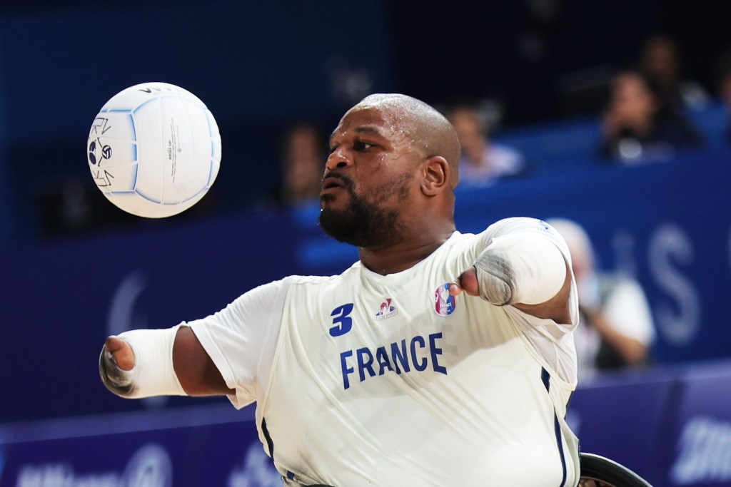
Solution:
[{"label": "blurred spectator directly left of the player's face", "polygon": [[325,158],[325,139],[314,123],[296,123],[287,129],[281,142],[277,203],[291,206],[316,201]]}]

